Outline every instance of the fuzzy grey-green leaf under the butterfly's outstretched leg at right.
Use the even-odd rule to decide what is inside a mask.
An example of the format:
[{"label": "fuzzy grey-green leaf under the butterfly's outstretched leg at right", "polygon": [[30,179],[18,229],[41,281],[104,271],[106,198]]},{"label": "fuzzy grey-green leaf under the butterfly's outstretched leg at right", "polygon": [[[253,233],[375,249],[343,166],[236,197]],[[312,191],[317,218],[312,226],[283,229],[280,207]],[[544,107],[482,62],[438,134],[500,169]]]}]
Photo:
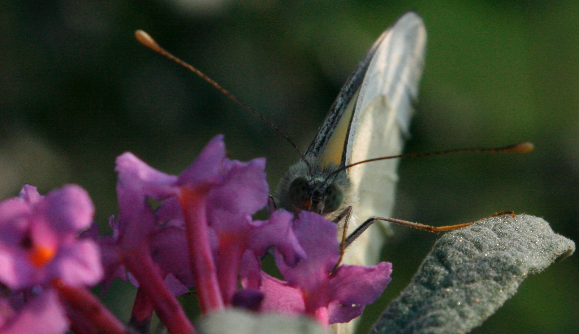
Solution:
[{"label": "fuzzy grey-green leaf under the butterfly's outstretched leg at right", "polygon": [[542,218],[497,216],[442,236],[371,333],[459,334],[511,298],[527,274],[570,255]]}]

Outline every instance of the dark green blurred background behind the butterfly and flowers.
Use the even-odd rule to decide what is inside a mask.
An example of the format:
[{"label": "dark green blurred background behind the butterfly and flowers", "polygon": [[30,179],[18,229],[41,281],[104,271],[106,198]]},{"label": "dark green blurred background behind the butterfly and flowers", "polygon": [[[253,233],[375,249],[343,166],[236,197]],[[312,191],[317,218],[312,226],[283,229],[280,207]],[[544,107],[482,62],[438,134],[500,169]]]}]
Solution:
[{"label": "dark green blurred background behind the butterfly and flowers", "polygon": [[[86,188],[105,227],[115,157],[178,174],[215,134],[231,157],[267,157],[270,185],[298,159],[255,116],[138,44],[144,29],[306,148],[374,39],[416,10],[428,47],[406,152],[532,141],[529,155],[404,160],[397,218],[433,225],[497,211],[543,216],[579,240],[578,1],[13,0],[0,2],[0,196]],[[395,227],[393,281],[368,331],[437,236]],[[474,333],[577,333],[579,257],[527,278]],[[124,321],[134,289],[104,297]],[[190,305],[193,297],[182,298]]]}]

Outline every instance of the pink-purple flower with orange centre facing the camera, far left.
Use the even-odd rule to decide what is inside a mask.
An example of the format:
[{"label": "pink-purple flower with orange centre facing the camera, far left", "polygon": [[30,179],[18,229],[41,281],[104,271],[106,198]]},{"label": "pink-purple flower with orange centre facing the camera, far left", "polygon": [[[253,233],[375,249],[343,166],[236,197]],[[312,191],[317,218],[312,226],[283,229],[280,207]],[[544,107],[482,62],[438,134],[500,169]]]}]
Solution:
[{"label": "pink-purple flower with orange centre facing the camera, far left", "polygon": [[78,234],[90,227],[93,204],[85,190],[67,185],[41,196],[25,185],[0,203],[0,281],[11,289],[94,285],[102,277],[97,245]]}]

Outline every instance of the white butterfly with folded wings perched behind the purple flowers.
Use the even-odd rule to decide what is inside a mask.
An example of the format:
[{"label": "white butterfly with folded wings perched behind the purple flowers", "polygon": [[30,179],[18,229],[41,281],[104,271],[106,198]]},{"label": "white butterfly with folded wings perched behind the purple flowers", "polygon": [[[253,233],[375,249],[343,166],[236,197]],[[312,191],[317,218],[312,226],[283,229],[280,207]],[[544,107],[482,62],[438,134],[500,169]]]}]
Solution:
[{"label": "white butterfly with folded wings perched behind the purple flowers", "polygon": [[[409,135],[425,49],[426,28],[415,12],[404,14],[380,35],[340,90],[302,159],[281,178],[274,195],[277,207],[314,211],[331,219],[349,207],[361,219],[391,216],[396,159],[339,170],[362,160],[400,155]],[[358,223],[350,219],[349,229]],[[379,226],[369,229],[348,247],[344,263],[376,263],[383,233]]]}]

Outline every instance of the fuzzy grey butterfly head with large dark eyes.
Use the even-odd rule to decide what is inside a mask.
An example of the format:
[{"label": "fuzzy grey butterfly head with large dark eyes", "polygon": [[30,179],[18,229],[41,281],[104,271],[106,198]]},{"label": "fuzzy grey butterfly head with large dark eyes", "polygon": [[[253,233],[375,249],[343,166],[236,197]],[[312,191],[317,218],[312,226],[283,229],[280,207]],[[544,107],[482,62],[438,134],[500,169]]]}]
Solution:
[{"label": "fuzzy grey butterfly head with large dark eyes", "polygon": [[307,162],[300,160],[285,173],[277,187],[276,204],[295,213],[306,210],[327,217],[351,205],[351,184],[346,171],[332,174],[338,166],[306,159]]}]

